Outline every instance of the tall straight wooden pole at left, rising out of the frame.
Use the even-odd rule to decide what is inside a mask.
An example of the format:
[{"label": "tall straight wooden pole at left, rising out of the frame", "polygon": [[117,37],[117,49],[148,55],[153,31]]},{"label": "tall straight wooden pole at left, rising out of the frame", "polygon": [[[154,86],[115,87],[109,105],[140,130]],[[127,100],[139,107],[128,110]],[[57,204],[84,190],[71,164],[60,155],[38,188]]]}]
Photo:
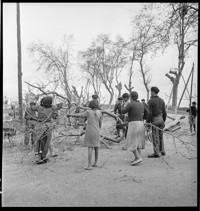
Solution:
[{"label": "tall straight wooden pole at left, rising out of the frame", "polygon": [[19,119],[23,123],[22,110],[22,54],[21,54],[21,31],[20,31],[20,7],[17,3],[17,53],[18,53],[18,101],[19,101]]}]

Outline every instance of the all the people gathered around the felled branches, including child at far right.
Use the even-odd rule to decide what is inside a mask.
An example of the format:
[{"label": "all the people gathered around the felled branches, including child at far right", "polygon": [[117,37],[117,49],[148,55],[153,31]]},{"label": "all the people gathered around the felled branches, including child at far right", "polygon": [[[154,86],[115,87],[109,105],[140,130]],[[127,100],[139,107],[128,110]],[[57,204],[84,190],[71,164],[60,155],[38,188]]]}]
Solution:
[{"label": "all the people gathered around the felled branches, including child at far right", "polygon": [[[125,137],[125,150],[130,149],[134,155],[131,165],[142,162],[141,150],[145,148],[145,124],[148,131],[152,132],[153,154],[149,158],[159,158],[166,155],[163,140],[163,128],[167,117],[165,102],[158,96],[158,87],[151,88],[151,98],[148,103],[145,100],[138,100],[138,93],[132,91],[130,94],[124,93],[118,98],[118,103],[114,107],[116,114],[117,137],[122,130]],[[193,103],[194,105],[194,103]],[[50,127],[51,119],[57,118],[57,111],[63,107],[62,103],[52,105],[51,97],[44,97],[40,105],[30,103],[30,108],[25,112],[27,130],[34,128],[32,133],[32,144],[34,144],[36,163],[47,162],[47,152],[50,149],[50,140],[52,128]],[[194,108],[188,111],[193,115],[192,125],[194,125]],[[37,112],[37,116],[36,116]],[[190,115],[191,116],[191,115]],[[67,117],[84,118],[86,122],[84,146],[88,148],[88,165],[86,170],[92,170],[98,163],[100,147],[100,130],[102,127],[103,115],[98,101],[98,95],[93,95],[92,100],[88,102],[86,110],[82,113],[67,114]],[[36,124],[37,123],[37,124]],[[127,123],[127,124],[124,124]],[[38,127],[39,124],[39,127]],[[36,127],[37,126],[37,127]],[[192,129],[191,129],[192,130]],[[195,127],[194,127],[195,130]],[[25,144],[28,144],[28,138],[25,135]],[[95,160],[92,164],[93,149]]]}]

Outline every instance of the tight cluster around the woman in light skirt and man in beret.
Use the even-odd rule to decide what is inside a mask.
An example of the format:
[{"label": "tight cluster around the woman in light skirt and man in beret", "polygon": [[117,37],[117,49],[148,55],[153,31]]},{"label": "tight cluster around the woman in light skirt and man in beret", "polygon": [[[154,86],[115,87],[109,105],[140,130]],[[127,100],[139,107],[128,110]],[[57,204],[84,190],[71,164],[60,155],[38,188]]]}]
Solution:
[{"label": "tight cluster around the woman in light skirt and man in beret", "polygon": [[[158,96],[159,89],[151,88],[151,98],[148,104],[142,99],[138,100],[138,93],[133,91],[124,93],[118,98],[115,104],[114,113],[118,115],[117,137],[120,137],[122,130],[125,137],[125,146],[123,149],[130,149],[134,154],[134,160],[131,165],[136,165],[142,161],[141,150],[145,148],[145,125],[147,130],[152,130],[154,153],[148,155],[149,158],[158,158],[166,154],[164,150],[163,128],[167,117],[165,102]],[[130,102],[128,101],[130,98]],[[127,125],[119,122],[128,122]]]}]

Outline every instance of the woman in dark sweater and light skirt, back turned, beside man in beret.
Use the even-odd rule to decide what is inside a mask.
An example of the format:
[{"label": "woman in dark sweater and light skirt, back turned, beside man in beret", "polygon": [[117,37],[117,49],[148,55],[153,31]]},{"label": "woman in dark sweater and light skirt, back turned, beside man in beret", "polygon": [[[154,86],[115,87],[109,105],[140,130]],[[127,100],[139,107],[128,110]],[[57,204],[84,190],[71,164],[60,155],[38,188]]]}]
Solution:
[{"label": "woman in dark sweater and light skirt, back turned, beside man in beret", "polygon": [[148,110],[139,102],[138,93],[133,91],[130,93],[130,103],[122,108],[122,114],[128,113],[128,131],[124,149],[130,148],[135,159],[131,165],[136,165],[142,161],[140,156],[141,149],[145,148],[145,127],[143,116],[148,116]]}]

